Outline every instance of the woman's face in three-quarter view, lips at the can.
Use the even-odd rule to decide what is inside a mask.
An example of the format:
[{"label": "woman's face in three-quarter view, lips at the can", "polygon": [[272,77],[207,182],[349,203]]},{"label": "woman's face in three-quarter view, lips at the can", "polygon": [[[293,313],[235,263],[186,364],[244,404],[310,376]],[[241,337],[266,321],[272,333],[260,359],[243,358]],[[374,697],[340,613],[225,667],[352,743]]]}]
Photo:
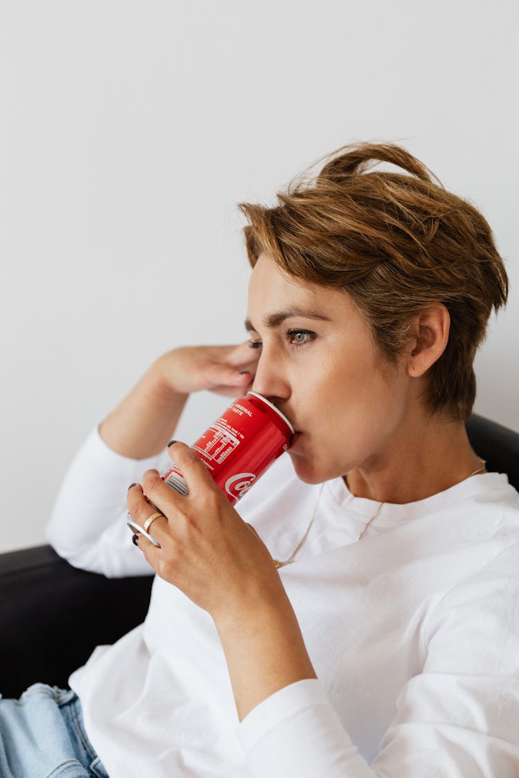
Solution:
[{"label": "woman's face in three-quarter view, lips at the can", "polygon": [[320,483],[384,467],[412,402],[410,379],[404,361],[381,359],[349,296],[299,282],[261,254],[246,326],[261,349],[252,388],[299,433],[289,449],[298,477]]}]

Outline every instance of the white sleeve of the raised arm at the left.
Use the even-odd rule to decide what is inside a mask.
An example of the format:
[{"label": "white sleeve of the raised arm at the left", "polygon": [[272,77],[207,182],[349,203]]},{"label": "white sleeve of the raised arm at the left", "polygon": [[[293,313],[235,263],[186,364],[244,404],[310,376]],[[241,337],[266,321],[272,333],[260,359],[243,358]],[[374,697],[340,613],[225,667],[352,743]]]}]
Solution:
[{"label": "white sleeve of the raised arm at the left", "polygon": [[58,492],[47,539],[73,566],[107,577],[153,574],[132,543],[126,493],[161,456],[134,460],[111,450],[93,429],[75,455]]}]

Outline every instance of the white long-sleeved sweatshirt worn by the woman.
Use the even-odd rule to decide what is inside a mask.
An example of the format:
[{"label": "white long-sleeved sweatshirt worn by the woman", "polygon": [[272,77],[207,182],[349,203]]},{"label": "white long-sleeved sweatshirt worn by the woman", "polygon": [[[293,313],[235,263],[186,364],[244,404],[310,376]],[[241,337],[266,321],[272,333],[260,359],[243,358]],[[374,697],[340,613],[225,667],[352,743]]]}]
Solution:
[{"label": "white long-sleeved sweatshirt worn by the woman", "polygon": [[[125,522],[127,487],[153,466],[94,431],[48,525],[56,551],[107,576],[153,572]],[[320,489],[283,454],[238,510],[286,559]],[[319,680],[241,724],[212,619],[156,577],[144,624],[69,679],[110,778],[519,775],[519,495],[475,475],[384,505],[356,542],[378,504],[324,485],[280,569]]]}]

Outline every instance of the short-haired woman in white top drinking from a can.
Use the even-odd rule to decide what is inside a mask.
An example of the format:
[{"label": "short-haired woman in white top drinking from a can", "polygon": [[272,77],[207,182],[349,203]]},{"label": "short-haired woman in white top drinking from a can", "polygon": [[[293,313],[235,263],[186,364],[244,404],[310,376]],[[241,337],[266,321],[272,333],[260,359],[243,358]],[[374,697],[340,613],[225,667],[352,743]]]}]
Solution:
[{"label": "short-haired woman in white top drinking from a can", "polygon": [[[250,342],[157,360],[61,489],[61,555],[158,575],[144,625],[51,704],[82,710],[110,778],[516,775],[519,496],[464,425],[507,298],[489,226],[395,145],[240,208]],[[154,468],[189,394],[251,387],[293,422],[288,454],[239,515],[170,443],[173,492]],[[160,548],[135,548],[149,501]]]}]

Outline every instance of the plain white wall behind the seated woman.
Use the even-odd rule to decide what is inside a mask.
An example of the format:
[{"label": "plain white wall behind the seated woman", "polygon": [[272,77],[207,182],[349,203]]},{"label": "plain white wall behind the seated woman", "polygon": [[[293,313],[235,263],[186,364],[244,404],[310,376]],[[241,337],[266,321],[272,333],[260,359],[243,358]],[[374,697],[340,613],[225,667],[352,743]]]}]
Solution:
[{"label": "plain white wall behind the seated woman", "polygon": [[[519,430],[517,9],[3,0],[0,550],[44,541],[72,454],[156,356],[244,338],[236,203],[356,139],[402,142],[493,226],[512,293],[476,410]],[[226,405],[192,398],[178,436]]]}]

